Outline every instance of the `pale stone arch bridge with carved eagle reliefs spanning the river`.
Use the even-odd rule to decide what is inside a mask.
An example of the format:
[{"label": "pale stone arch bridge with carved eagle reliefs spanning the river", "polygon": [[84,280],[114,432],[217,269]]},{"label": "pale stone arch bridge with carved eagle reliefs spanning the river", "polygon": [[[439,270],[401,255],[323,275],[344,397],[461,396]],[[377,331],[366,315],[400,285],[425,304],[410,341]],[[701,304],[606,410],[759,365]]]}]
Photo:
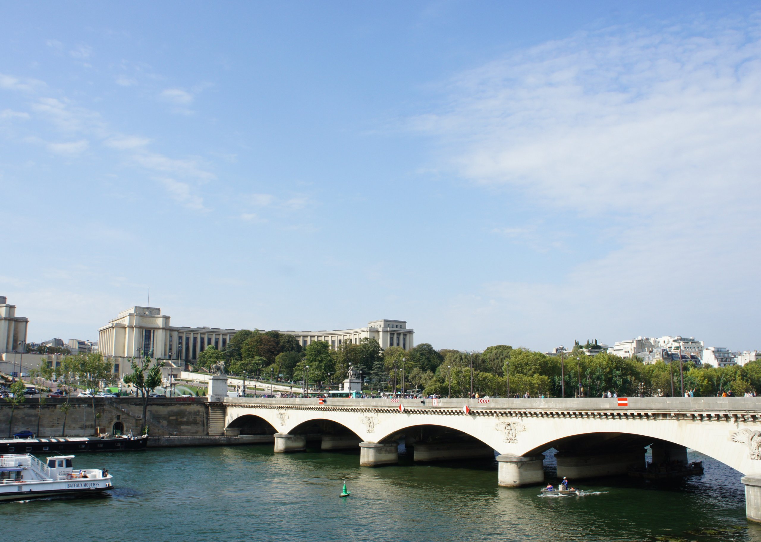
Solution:
[{"label": "pale stone arch bridge with carved eagle reliefs spanning the river", "polygon": [[555,448],[559,476],[623,474],[653,461],[686,461],[686,449],[743,473],[747,516],[761,521],[761,398],[617,399],[243,399],[225,397],[228,435],[271,435],[276,452],[360,448],[360,464],[494,458],[498,483],[543,483],[543,452]]}]

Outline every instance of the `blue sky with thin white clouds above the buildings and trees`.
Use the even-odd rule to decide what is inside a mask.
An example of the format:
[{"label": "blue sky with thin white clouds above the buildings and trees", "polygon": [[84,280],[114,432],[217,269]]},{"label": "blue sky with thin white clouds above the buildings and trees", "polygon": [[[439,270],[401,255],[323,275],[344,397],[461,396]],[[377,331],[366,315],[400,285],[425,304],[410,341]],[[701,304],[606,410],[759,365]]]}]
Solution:
[{"label": "blue sky with thin white clouds above the buildings and trees", "polygon": [[761,348],[754,2],[3,2],[30,340],[406,319]]}]

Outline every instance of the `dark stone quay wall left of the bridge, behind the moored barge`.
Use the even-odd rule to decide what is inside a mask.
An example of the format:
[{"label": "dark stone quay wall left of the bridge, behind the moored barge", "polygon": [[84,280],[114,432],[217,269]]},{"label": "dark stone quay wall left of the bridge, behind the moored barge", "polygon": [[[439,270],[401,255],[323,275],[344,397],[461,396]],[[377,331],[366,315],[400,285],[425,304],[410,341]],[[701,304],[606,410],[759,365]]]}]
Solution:
[{"label": "dark stone quay wall left of the bridge, behind the moored barge", "polygon": [[[37,419],[40,419],[40,437],[62,436],[63,412],[59,406],[64,399],[48,399],[39,407],[37,397],[16,407],[13,414],[11,435],[28,429],[37,433]],[[66,436],[92,436],[95,433],[91,399],[69,401],[66,417]],[[202,436],[208,431],[208,403],[205,399],[188,401],[186,398],[151,399],[148,403],[149,434],[155,436]],[[140,434],[142,426],[142,400],[135,397],[95,398],[95,412],[100,413],[97,425],[101,432],[111,433],[116,422],[122,422],[124,432],[132,430]],[[11,406],[0,400],[0,438],[8,438],[8,422],[11,421]]]}]

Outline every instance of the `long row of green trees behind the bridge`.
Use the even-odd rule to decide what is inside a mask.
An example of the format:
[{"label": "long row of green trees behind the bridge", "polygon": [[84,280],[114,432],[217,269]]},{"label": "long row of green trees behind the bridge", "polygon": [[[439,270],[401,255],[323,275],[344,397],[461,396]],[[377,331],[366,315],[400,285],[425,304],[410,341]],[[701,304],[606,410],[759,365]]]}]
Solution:
[{"label": "long row of green trees behind the bridge", "polygon": [[[313,341],[303,349],[295,337],[268,331],[243,330],[227,349],[207,348],[199,366],[225,361],[228,372],[335,387],[349,367],[360,373],[372,391],[418,390],[425,394],[467,397],[473,394],[513,397],[600,397],[610,391],[621,396],[670,396],[692,390],[708,396],[732,391],[761,390],[761,361],[744,367],[696,367],[693,362],[656,362],[624,359],[603,352],[594,343],[575,343],[571,352],[546,355],[512,346],[489,346],[484,352],[435,350],[423,343],[411,350],[381,349],[377,340],[344,342],[337,349]],[[587,352],[599,352],[587,355]],[[396,384],[396,385],[395,385]]]}]

